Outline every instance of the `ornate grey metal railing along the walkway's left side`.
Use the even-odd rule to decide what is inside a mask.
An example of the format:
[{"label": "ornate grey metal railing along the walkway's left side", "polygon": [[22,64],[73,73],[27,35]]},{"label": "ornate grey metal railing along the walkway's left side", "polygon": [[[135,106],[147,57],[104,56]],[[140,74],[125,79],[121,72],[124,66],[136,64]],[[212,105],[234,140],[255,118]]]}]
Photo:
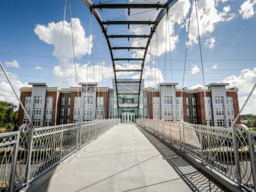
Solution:
[{"label": "ornate grey metal railing along the walkway's left side", "polygon": [[1,191],[13,191],[30,182],[77,152],[120,119],[95,120],[0,134]]}]

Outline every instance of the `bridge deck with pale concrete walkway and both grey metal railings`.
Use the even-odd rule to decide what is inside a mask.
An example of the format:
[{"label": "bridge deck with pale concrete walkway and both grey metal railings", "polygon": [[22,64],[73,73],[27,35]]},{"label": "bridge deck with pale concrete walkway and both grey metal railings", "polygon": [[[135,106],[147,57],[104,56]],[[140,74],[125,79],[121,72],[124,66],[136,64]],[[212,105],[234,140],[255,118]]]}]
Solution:
[{"label": "bridge deck with pale concrete walkway and both grey metal railings", "polygon": [[108,119],[0,135],[3,191],[255,191],[255,132]]}]

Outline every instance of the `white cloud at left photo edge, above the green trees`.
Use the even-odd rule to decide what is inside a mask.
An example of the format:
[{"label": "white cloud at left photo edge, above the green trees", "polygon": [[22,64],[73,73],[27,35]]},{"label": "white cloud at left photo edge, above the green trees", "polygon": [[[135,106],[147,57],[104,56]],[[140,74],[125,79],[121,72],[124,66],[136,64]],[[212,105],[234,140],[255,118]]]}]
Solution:
[{"label": "white cloud at left photo edge, above the green trees", "polygon": [[[29,87],[28,83],[25,82],[21,82],[20,80],[18,80],[17,75],[11,72],[7,72],[7,74],[9,75],[10,81],[14,87],[15,92],[17,93],[17,95],[20,95],[19,89],[22,87]],[[18,100],[15,97],[14,92],[11,89],[11,86],[9,84],[9,82],[7,81],[5,75],[3,72],[0,72],[0,100],[1,101],[7,101],[7,102],[12,102],[16,105],[18,105]]]}]

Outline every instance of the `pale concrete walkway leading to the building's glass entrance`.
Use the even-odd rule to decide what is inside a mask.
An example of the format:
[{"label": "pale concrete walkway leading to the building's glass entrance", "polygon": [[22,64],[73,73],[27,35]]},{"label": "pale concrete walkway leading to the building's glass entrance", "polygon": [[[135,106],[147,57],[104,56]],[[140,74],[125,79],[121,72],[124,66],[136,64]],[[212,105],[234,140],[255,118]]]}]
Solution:
[{"label": "pale concrete walkway leading to the building's glass entrance", "polygon": [[[158,140],[154,142],[161,143]],[[36,191],[195,190],[154,145],[135,124],[120,124],[100,136],[76,160]],[[164,148],[164,152],[167,151],[169,148]],[[171,156],[176,154],[172,152]],[[181,166],[188,171],[188,164]],[[193,174],[198,174],[196,169],[193,169]],[[203,188],[206,191],[205,186]],[[219,191],[216,189],[218,187],[214,191]]]}]

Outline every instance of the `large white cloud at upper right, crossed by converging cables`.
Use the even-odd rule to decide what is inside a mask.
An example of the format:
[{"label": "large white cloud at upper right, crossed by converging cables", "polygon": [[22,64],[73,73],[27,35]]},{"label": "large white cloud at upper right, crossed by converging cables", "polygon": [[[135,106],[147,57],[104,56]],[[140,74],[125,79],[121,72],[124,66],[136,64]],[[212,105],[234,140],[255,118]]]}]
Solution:
[{"label": "large white cloud at upper right, crossed by converging cables", "polygon": [[[217,10],[220,1],[200,0],[197,2],[198,22],[201,36],[207,36],[214,32],[215,27],[220,22],[228,22],[236,15],[231,13],[230,7],[224,7],[222,11]],[[221,2],[223,3],[223,1]],[[186,30],[188,30],[188,19],[186,21]],[[198,44],[198,29],[195,3],[190,18],[188,45]]]}]

